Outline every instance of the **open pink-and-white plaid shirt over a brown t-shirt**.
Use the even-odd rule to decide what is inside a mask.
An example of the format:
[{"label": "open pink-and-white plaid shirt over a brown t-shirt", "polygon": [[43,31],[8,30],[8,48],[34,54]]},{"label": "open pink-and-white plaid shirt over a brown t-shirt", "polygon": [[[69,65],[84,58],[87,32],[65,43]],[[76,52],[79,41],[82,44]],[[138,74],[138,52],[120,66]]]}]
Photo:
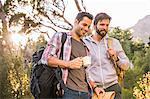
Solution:
[{"label": "open pink-and-white plaid shirt over a brown t-shirt", "polygon": [[[48,64],[48,56],[54,56],[59,58],[60,51],[61,51],[61,37],[62,33],[57,32],[54,34],[52,39],[48,42],[47,47],[45,48],[41,62],[43,64]],[[87,50],[88,54],[89,51]],[[71,33],[67,32],[67,39],[64,44],[64,52],[63,52],[63,60],[69,61],[71,55]],[[64,80],[64,83],[66,83],[68,77],[68,69],[63,69],[62,78]]]}]

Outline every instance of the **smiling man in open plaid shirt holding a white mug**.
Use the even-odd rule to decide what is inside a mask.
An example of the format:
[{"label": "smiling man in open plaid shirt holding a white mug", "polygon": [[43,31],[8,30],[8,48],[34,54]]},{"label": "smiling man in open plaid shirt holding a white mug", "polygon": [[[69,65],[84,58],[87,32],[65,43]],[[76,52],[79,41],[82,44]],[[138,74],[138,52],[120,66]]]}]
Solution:
[{"label": "smiling man in open plaid shirt holding a white mug", "polygon": [[42,55],[42,63],[53,67],[59,66],[63,69],[62,77],[66,84],[63,99],[90,99],[89,85],[83,66],[83,57],[87,56],[89,52],[82,41],[82,37],[89,32],[92,19],[93,16],[90,13],[78,13],[72,30],[66,33],[67,39],[64,44],[63,60],[59,59],[62,46],[61,32],[54,34]]}]

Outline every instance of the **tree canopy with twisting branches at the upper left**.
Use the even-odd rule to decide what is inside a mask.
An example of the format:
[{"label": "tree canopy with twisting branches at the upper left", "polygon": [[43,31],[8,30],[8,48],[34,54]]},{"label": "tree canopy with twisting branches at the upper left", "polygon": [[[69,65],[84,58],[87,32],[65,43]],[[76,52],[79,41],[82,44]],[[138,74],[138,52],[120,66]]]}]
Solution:
[{"label": "tree canopy with twisting branches at the upper left", "polygon": [[[78,11],[86,10],[83,0],[74,0]],[[18,7],[22,7],[19,10]],[[72,24],[65,15],[67,1],[64,0],[7,0],[4,8],[10,16],[9,26],[21,24],[20,32],[30,33],[35,30],[46,33],[41,28],[51,31],[70,30]],[[25,11],[24,9],[29,9]],[[17,11],[18,10],[18,11]],[[23,11],[24,10],[24,11]]]}]

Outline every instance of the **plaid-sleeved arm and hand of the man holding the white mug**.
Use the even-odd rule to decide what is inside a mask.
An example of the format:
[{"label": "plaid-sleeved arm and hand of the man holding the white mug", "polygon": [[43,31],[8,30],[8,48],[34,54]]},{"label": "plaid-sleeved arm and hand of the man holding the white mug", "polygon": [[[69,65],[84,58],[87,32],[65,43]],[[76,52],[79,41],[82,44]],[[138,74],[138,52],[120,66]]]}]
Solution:
[{"label": "plaid-sleeved arm and hand of the man holding the white mug", "polygon": [[42,63],[51,67],[76,69],[82,66],[82,58],[76,58],[71,61],[64,61],[58,58],[59,50],[61,50],[61,33],[55,33],[48,42],[42,55]]}]

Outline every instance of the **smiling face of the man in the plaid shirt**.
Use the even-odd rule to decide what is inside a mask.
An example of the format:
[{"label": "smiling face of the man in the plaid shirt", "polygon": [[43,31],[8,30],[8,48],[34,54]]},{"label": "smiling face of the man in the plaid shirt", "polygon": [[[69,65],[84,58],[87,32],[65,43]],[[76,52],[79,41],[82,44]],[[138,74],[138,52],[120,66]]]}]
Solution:
[{"label": "smiling face of the man in the plaid shirt", "polygon": [[79,37],[86,35],[86,33],[88,33],[90,30],[91,23],[92,23],[92,20],[89,19],[88,17],[83,17],[83,19],[80,22],[76,20],[75,22],[76,34]]}]

